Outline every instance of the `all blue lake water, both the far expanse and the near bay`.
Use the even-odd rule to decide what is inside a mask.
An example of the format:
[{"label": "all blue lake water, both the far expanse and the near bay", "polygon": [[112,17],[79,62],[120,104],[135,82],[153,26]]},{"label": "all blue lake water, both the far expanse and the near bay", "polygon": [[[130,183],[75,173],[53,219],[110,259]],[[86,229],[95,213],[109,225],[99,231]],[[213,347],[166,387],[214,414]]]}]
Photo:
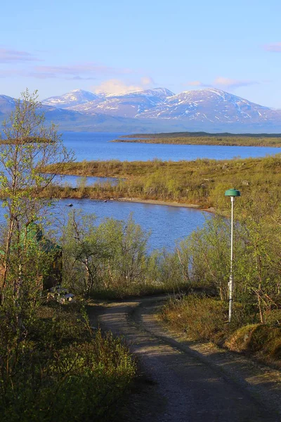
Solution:
[{"label": "all blue lake water, both the far expanse and the near bay", "polygon": [[[262,157],[281,152],[281,148],[241,147],[241,146],[196,146],[196,145],[161,145],[149,143],[110,143],[120,134],[105,133],[63,133],[63,141],[67,148],[71,148],[80,160],[195,160],[196,158],[212,158],[226,160],[240,156]],[[67,176],[63,184],[79,186],[79,177]],[[96,181],[106,181],[112,178],[89,177],[86,184],[91,185]],[[223,193],[222,193],[223,195]],[[67,207],[67,205],[73,206]],[[200,210],[185,207],[170,207],[166,205],[148,205],[142,203],[125,203],[107,200],[59,200],[53,209],[53,226],[61,229],[61,225],[67,219],[67,214],[72,210],[81,209],[84,213],[94,213],[98,217],[97,223],[104,217],[114,217],[126,220],[133,213],[133,219],[141,224],[145,231],[151,231],[149,248],[159,249],[166,247],[174,248],[175,241],[188,236],[197,227],[202,227],[207,215]],[[4,210],[0,208],[0,220],[3,221]]]}]

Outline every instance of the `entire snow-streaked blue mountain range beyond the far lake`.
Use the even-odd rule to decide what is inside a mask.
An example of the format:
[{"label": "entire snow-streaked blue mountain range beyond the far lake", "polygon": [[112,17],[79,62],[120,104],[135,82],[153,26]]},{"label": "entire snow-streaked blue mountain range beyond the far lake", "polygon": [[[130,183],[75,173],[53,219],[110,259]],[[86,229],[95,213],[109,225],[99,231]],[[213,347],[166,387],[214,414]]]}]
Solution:
[{"label": "entire snow-streaked blue mountain range beyond the far lake", "polygon": [[[42,101],[47,121],[60,130],[91,132],[281,132],[281,110],[260,106],[219,89],[174,94],[165,88],[126,94],[75,89]],[[15,99],[0,95],[0,120]]]}]

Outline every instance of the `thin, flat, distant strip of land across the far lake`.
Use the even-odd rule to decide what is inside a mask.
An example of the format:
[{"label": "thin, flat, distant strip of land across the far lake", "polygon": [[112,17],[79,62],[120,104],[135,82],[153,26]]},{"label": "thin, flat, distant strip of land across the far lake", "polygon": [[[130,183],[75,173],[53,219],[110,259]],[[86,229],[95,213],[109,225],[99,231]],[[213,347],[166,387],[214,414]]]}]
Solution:
[{"label": "thin, flat, distant strip of land across the far lake", "polygon": [[115,139],[115,141],[112,142],[281,147],[281,134],[209,134],[207,132],[174,132],[125,135],[120,136],[120,138]]}]

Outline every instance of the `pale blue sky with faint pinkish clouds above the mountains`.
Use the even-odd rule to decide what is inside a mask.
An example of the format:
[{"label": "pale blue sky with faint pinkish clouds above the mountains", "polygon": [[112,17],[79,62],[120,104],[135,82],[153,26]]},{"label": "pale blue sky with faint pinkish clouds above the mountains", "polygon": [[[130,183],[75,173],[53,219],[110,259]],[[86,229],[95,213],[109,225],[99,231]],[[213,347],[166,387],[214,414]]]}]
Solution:
[{"label": "pale blue sky with faint pinkish clouds above the mountains", "polygon": [[280,0],[5,1],[0,94],[215,87],[281,108],[280,15]]}]

